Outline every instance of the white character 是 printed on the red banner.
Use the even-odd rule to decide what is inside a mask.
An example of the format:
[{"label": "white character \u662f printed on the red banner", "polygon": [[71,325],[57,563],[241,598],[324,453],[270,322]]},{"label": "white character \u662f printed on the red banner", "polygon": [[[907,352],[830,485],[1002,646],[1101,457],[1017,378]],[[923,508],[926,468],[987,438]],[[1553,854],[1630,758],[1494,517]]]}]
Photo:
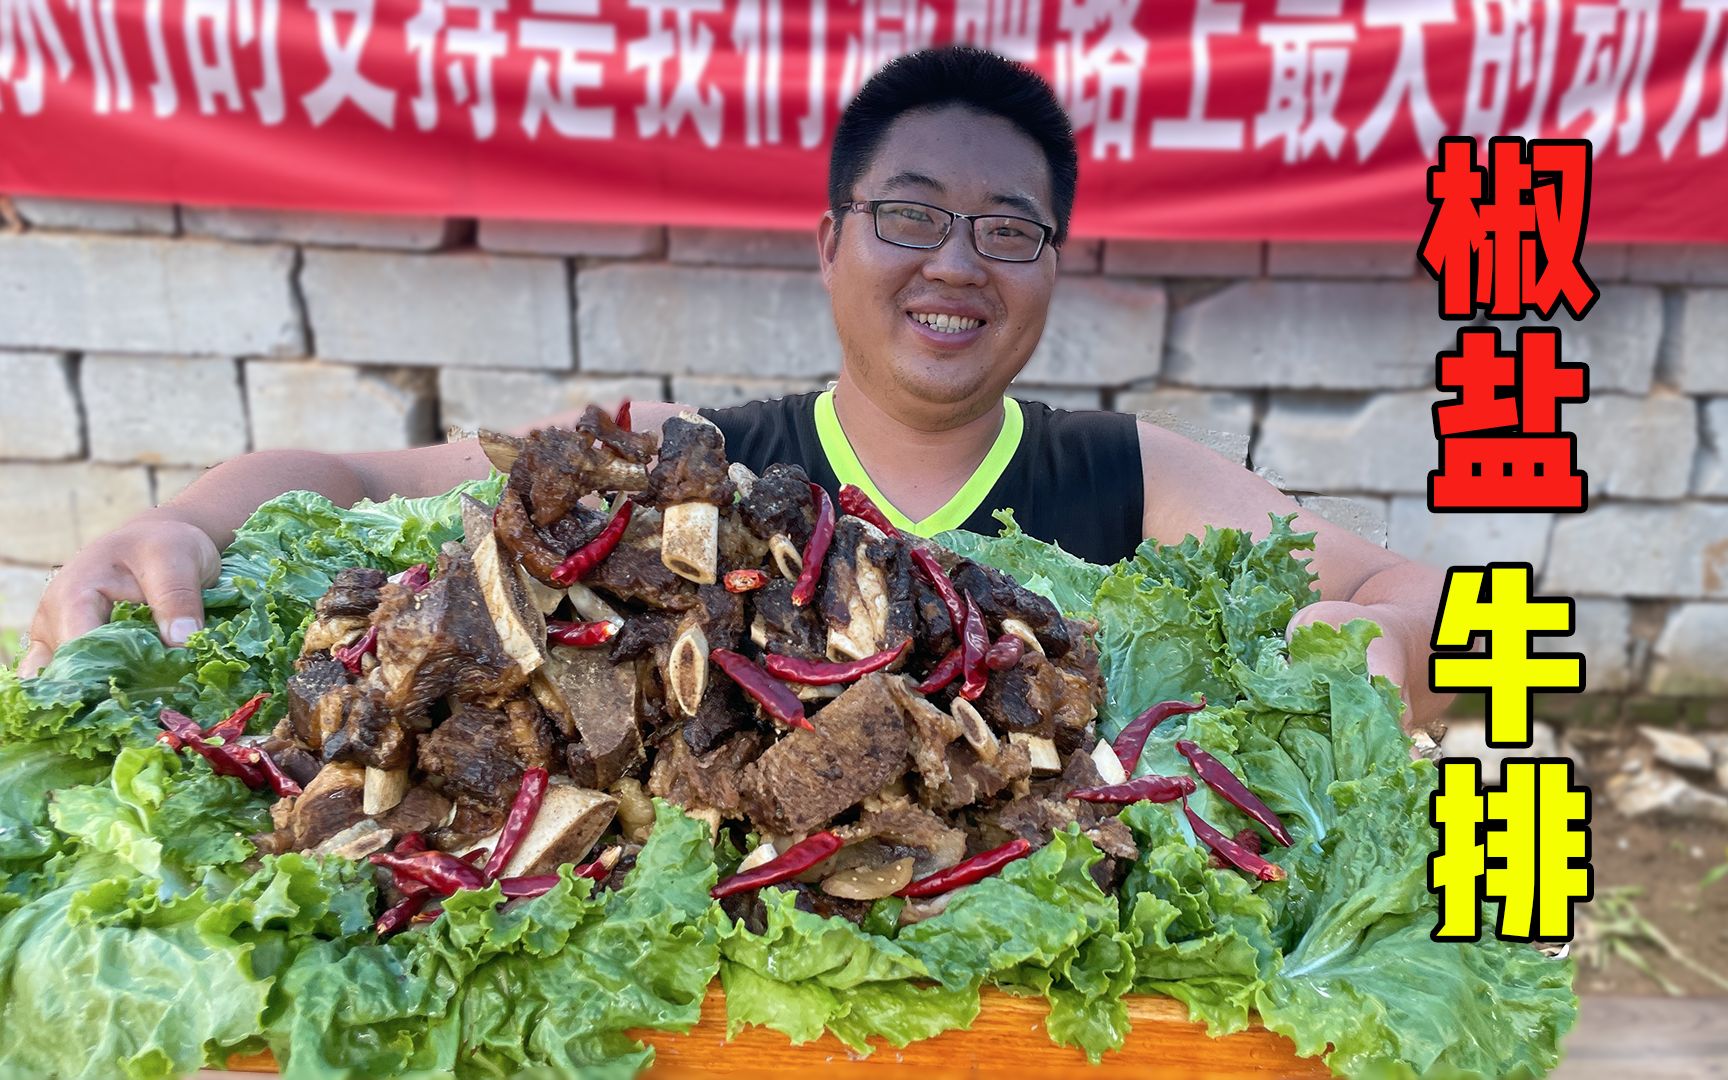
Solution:
[{"label": "white character \u662f printed on the red banner", "polygon": [[612,138],[612,107],[575,100],[577,90],[598,90],[603,81],[600,60],[582,55],[612,55],[619,45],[617,29],[600,19],[600,0],[534,0],[530,14],[541,17],[522,19],[517,41],[555,57],[534,57],[522,130],[534,138],[541,121],[550,121],[565,138]]}]

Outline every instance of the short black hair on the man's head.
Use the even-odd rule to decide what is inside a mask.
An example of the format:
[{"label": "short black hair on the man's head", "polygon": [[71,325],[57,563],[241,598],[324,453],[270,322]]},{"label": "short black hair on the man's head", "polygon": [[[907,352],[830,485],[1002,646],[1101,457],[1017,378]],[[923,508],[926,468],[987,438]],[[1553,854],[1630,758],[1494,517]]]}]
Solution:
[{"label": "short black hair on the man's head", "polygon": [[971,45],[943,45],[895,57],[864,83],[835,130],[828,157],[828,206],[840,216],[840,206],[852,202],[852,188],[869,169],[895,119],[943,105],[1001,116],[1039,143],[1051,166],[1052,242],[1061,247],[1068,238],[1080,180],[1080,154],[1068,112],[1037,71]]}]

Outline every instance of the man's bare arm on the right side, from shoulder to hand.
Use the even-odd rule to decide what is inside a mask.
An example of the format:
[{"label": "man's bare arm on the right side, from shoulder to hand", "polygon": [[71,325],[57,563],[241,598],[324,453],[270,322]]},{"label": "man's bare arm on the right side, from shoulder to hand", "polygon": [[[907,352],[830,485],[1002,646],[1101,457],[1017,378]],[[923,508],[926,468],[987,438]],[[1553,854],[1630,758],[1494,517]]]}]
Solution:
[{"label": "man's bare arm on the right side, from shoulder to hand", "polygon": [[1206,525],[1265,536],[1268,513],[1296,513],[1296,527],[1315,532],[1308,569],[1318,575],[1320,601],[1291,620],[1341,626],[1372,619],[1386,636],[1369,646],[1369,667],[1403,688],[1405,727],[1429,729],[1452,700],[1427,689],[1429,636],[1445,574],[1370,544],[1355,532],[1305,511],[1296,499],[1213,451],[1153,423],[1140,423],[1140,472],[1146,479],[1144,536],[1178,541]]}]

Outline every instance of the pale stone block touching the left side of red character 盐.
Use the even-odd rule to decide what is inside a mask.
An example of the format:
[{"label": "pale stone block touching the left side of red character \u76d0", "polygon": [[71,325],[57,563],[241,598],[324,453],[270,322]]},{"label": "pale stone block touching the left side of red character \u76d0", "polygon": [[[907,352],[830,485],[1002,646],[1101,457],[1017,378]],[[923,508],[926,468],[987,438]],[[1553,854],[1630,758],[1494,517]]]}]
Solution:
[{"label": "pale stone block touching the left side of red character \u76d0", "polygon": [[1434,394],[1274,396],[1251,458],[1294,491],[1427,491]]}]

